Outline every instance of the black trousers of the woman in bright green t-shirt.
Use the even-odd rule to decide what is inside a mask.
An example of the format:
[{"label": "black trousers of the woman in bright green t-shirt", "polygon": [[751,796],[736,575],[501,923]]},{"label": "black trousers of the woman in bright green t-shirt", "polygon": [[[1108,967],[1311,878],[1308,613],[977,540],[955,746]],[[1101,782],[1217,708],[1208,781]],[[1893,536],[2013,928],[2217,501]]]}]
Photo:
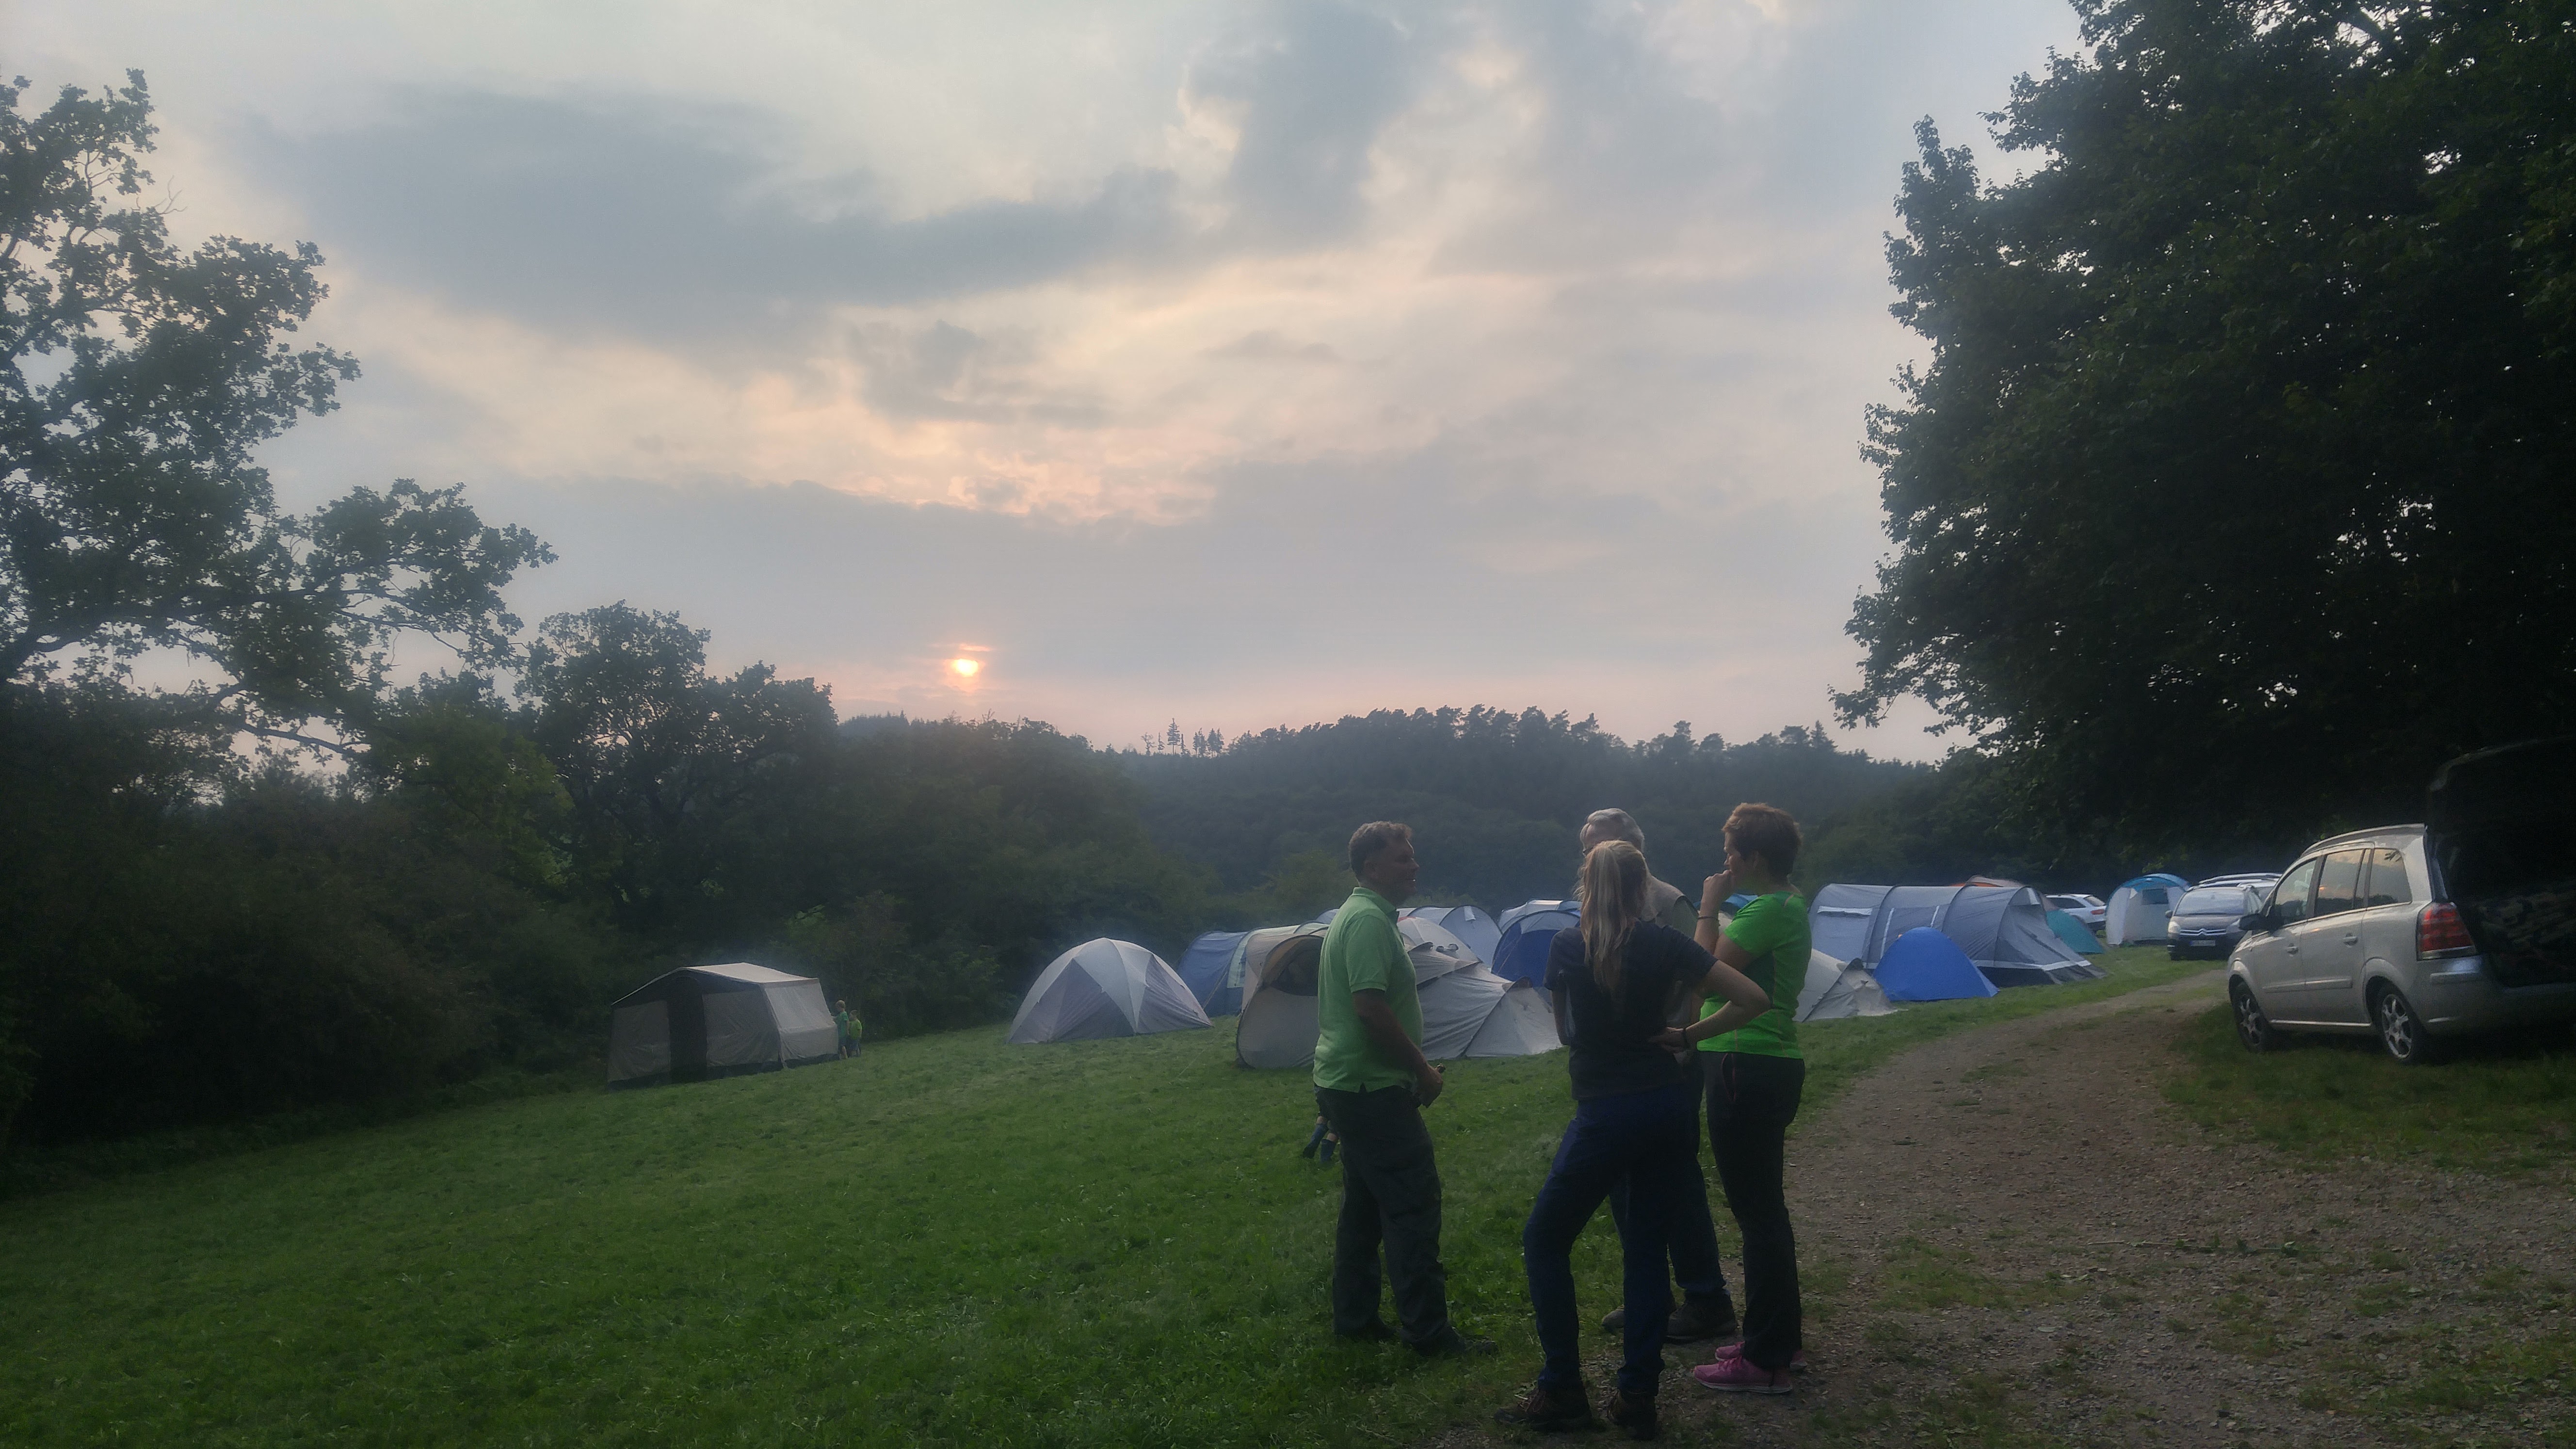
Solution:
[{"label": "black trousers of the woman in bright green t-shirt", "polygon": [[1788,1225],[1783,1176],[1806,1062],[1713,1052],[1700,1073],[1708,1083],[1708,1150],[1744,1235],[1744,1359],[1780,1372],[1798,1351],[1798,1235]]}]

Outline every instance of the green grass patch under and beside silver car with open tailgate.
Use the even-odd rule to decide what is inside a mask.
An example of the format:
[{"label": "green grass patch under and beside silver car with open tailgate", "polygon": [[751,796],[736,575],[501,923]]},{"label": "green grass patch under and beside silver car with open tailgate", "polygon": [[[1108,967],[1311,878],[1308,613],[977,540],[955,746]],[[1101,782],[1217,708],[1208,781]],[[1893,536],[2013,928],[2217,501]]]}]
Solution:
[{"label": "green grass patch under and beside silver car with open tailgate", "polygon": [[2257,1057],[2213,1008],[2182,1036],[2164,1096],[2210,1129],[2311,1160],[2409,1158],[2527,1176],[2576,1158],[2576,1036],[2465,1042],[2406,1067],[2372,1036],[2287,1036]]}]

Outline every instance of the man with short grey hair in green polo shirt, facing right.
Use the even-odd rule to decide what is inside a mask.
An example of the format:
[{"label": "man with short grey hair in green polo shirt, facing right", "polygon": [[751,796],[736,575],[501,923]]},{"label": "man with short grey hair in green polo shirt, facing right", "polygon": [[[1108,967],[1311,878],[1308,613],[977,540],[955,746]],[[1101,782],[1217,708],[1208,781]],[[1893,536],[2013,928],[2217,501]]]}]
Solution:
[{"label": "man with short grey hair in green polo shirt, facing right", "polygon": [[1440,1266],[1440,1165],[1422,1109],[1440,1067],[1422,1055],[1422,998],[1396,908],[1422,874],[1414,833],[1394,820],[1350,838],[1358,890],[1324,933],[1316,972],[1314,1104],[1342,1140],[1342,1220],[1332,1235],[1332,1330],[1391,1338],[1378,1318],[1378,1248],[1396,1287],[1404,1341],[1422,1356],[1492,1354],[1448,1320]]}]

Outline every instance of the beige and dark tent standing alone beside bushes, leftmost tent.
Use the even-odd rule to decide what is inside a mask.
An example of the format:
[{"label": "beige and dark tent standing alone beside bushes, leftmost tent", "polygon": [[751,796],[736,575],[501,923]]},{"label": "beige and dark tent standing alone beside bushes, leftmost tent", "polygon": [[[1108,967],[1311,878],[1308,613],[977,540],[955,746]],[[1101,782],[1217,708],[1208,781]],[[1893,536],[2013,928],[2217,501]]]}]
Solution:
[{"label": "beige and dark tent standing alone beside bushes, leftmost tent", "polygon": [[750,962],[680,967],[608,1008],[608,1085],[775,1073],[840,1057],[822,982]]}]

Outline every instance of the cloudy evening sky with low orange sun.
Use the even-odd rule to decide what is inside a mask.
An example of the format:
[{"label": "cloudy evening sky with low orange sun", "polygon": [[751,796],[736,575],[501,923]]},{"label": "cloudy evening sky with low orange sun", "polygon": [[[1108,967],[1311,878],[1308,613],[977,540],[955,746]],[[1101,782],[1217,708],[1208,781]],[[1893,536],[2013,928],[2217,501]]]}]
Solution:
[{"label": "cloudy evening sky with low orange sun", "polygon": [[[147,72],[175,232],[312,240],[278,492],[464,482],[842,714],[1126,745],[1832,717],[1883,235],[2063,0],[0,0]],[[974,673],[961,668],[974,665]],[[1844,745],[1929,758],[1919,706]]]}]

